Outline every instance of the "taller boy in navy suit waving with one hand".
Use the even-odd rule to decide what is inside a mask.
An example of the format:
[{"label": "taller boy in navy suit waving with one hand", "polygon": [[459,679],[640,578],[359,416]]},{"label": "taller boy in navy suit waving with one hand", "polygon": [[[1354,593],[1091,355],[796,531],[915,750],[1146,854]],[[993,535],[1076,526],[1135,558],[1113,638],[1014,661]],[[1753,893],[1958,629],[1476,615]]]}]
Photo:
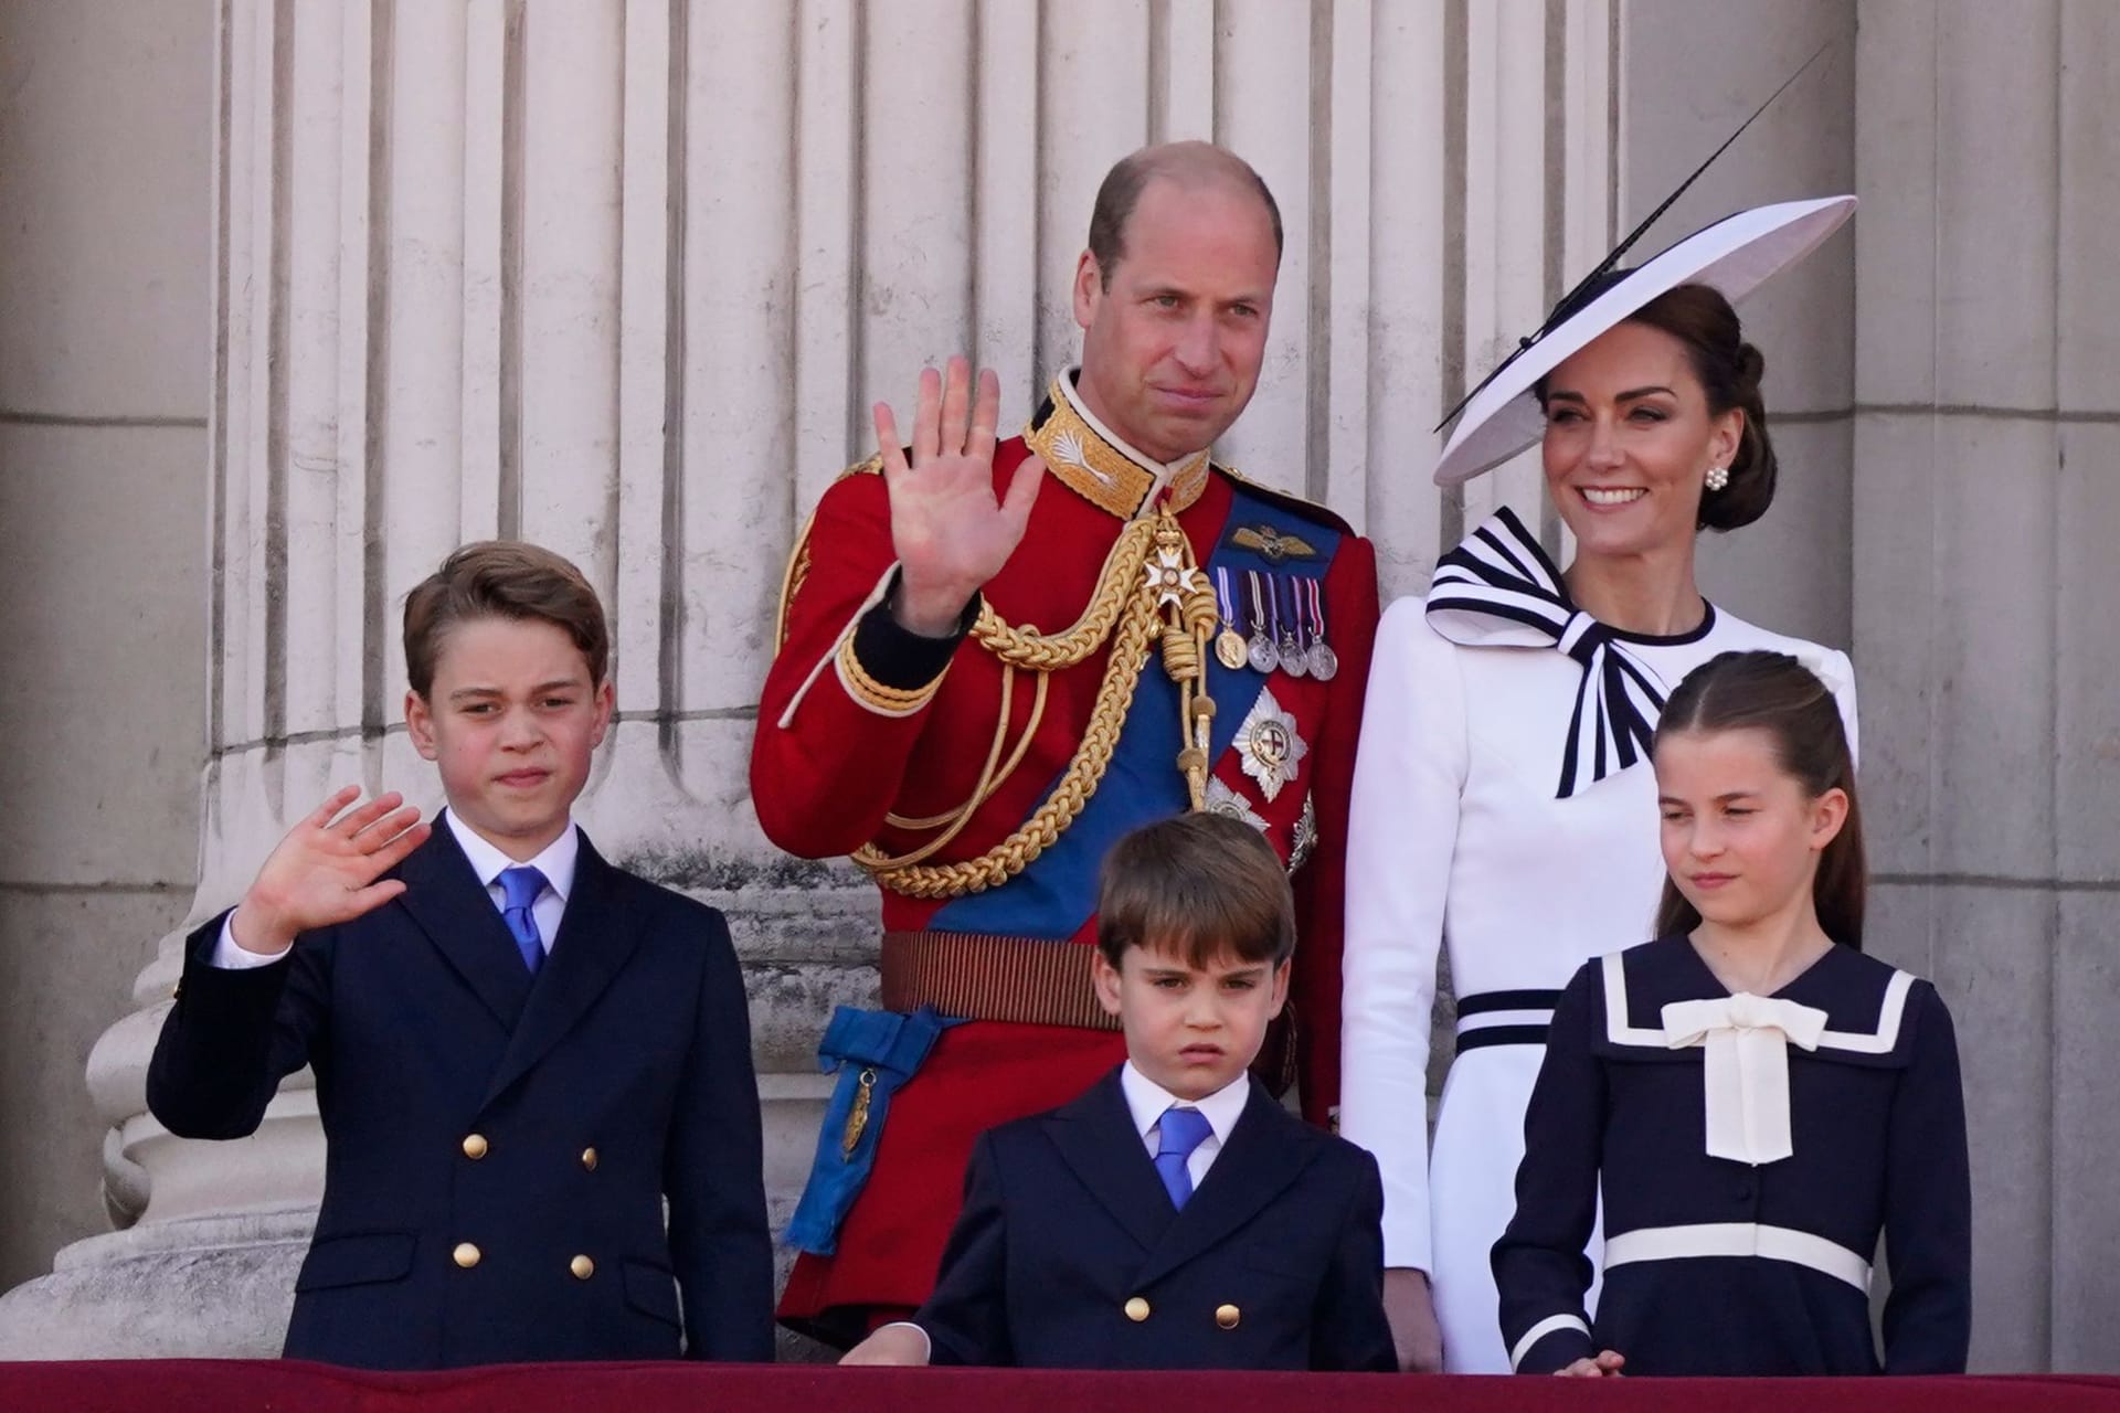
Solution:
[{"label": "taller boy in navy suit waving with one hand", "polygon": [[642,1360],[681,1332],[693,1358],[772,1358],[729,930],[572,822],[608,657],[566,559],[449,555],[405,600],[405,725],[443,824],[339,790],[184,945],[146,1085],[172,1133],[242,1138],[316,1072],[324,1201],[290,1358]]}]

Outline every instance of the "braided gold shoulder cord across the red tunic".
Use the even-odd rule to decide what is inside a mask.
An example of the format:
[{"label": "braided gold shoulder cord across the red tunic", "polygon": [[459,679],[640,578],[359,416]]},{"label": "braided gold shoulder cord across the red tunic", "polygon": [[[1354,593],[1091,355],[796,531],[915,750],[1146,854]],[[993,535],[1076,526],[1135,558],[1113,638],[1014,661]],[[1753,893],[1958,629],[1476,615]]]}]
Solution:
[{"label": "braided gold shoulder cord across the red tunic", "polygon": [[[865,470],[856,468],[856,470]],[[787,606],[801,587],[810,566],[808,530],[797,542],[789,564],[787,587],[780,604],[780,638],[787,636]],[[1166,612],[1168,610],[1168,612]],[[920,820],[886,816],[886,824],[901,830],[939,830],[916,849],[890,856],[873,843],[852,854],[876,881],[907,898],[956,898],[986,892],[1007,883],[1043,854],[1081,813],[1096,786],[1105,780],[1111,752],[1119,744],[1119,729],[1134,705],[1134,688],[1147,661],[1149,642],[1162,646],[1164,672],[1179,684],[1179,731],[1185,748],[1177,767],[1185,775],[1191,807],[1200,809],[1206,794],[1208,733],[1215,718],[1215,699],[1202,686],[1202,665],[1217,621],[1215,589],[1200,572],[1198,559],[1185,532],[1170,511],[1160,511],[1153,519],[1128,521],[1105,557],[1096,591],[1090,595],[1081,616],[1060,633],[1041,633],[1035,627],[1013,627],[994,612],[992,604],[982,604],[973,623],[973,640],[1001,659],[1001,703],[994,720],[994,739],[988,746],[986,763],[971,797],[939,816]],[[1007,839],[977,858],[954,864],[929,864],[939,849],[948,847],[973,813],[992,799],[1022,765],[1045,718],[1045,695],[1054,672],[1073,667],[1111,642],[1111,659],[1105,678],[1096,688],[1096,703],[1081,744],[1075,748],[1060,784],[1039,809],[1024,820]],[[1030,718],[1024,722],[1015,748],[1003,761],[1003,746],[1009,733],[1009,712],[1015,695],[1015,674],[1035,672],[1037,688],[1030,703]]]}]

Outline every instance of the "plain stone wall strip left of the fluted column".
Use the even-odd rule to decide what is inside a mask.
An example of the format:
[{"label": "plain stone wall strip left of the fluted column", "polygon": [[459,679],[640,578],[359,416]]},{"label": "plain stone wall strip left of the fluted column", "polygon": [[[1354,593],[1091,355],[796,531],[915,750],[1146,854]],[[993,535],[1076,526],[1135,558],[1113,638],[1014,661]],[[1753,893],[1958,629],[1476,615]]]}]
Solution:
[{"label": "plain stone wall strip left of the fluted column", "polygon": [[83,1070],[191,900],[214,32],[0,0],[0,1288],[108,1224]]}]

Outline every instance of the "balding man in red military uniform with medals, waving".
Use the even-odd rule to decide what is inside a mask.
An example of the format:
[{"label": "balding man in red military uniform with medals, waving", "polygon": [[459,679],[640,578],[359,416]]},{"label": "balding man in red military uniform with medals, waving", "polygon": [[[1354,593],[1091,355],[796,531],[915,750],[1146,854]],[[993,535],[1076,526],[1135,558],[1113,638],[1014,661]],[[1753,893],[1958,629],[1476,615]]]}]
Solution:
[{"label": "balding man in red military uniform with medals, waving", "polygon": [[1098,191],[1081,369],[996,443],[999,388],[922,373],[909,453],[842,477],[789,566],[750,786],[780,847],[882,888],[884,1013],[825,1038],[840,1089],[789,1239],[782,1320],[837,1343],[916,1307],[971,1140],[1124,1059],[1090,989],[1096,866],[1147,820],[1219,809],[1295,879],[1304,1112],[1340,1070],[1342,843],[1376,557],[1208,449],[1251,400],[1280,216],[1208,144]]}]

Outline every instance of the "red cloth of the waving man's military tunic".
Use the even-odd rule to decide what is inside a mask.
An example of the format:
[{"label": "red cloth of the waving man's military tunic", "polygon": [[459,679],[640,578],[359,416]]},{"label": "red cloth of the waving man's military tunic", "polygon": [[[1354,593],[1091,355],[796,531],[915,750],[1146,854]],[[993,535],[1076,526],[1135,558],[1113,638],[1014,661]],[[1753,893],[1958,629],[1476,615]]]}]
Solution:
[{"label": "red cloth of the waving man's military tunic", "polygon": [[[996,494],[1024,455],[1022,439],[996,451]],[[1225,532],[1238,530],[1227,523],[1234,485],[1221,468],[1194,477],[1189,485],[1183,472],[1170,481],[1170,504],[1200,564],[1211,559]],[[1293,879],[1297,949],[1291,1006],[1304,1112],[1314,1123],[1327,1123],[1340,1078],[1342,862],[1378,616],[1376,557],[1367,540],[1323,508],[1259,487],[1247,487],[1247,494],[1272,502],[1283,519],[1293,515],[1319,525],[1319,540],[1338,532],[1338,551],[1321,574],[1338,676],[1331,682],[1297,680],[1285,672],[1255,678],[1295,720],[1308,754],[1274,799],[1247,777],[1240,750],[1225,750],[1213,769],[1215,780],[1227,786],[1225,803],[1230,794],[1240,799],[1253,822],[1264,822],[1283,858],[1297,847],[1306,801],[1314,809],[1317,843]],[[1007,623],[1060,631],[1090,604],[1105,555],[1126,523],[1121,513],[1090,496],[1111,504],[1109,491],[1064,466],[1056,466],[1041,487],[1022,547],[984,589],[986,602]],[[1319,574],[1314,559],[1300,568]],[[765,678],[750,758],[759,824],[791,854],[827,858],[871,841],[888,854],[916,847],[931,835],[893,830],[884,816],[920,820],[958,809],[988,761],[1003,665],[977,640],[967,636],[956,644],[939,688],[924,701],[916,701],[920,693],[893,691],[903,682],[880,686],[867,680],[861,667],[869,663],[848,646],[854,623],[876,602],[890,570],[884,479],[848,475],[825,491],[806,542],[797,547],[782,606],[784,638]],[[863,642],[871,638],[865,633]],[[854,667],[846,665],[850,657]],[[1081,741],[1107,657],[1109,648],[1100,646],[1081,663],[1049,674],[1045,712],[1022,765],[929,862],[986,854],[1043,803]],[[1162,672],[1155,655],[1143,672]],[[1015,674],[1007,750],[1015,748],[1030,720],[1035,684],[1037,674]],[[1174,765],[1170,777],[1179,780]],[[884,928],[929,928],[948,902],[907,898],[886,888]],[[1094,898],[1056,902],[1052,911],[1056,926],[1024,932],[1094,941]],[[1085,922],[1077,926],[1075,919]],[[801,1256],[782,1296],[782,1318],[810,1330],[859,1332],[861,1322],[846,1316],[920,1305],[956,1218],[971,1140],[996,1123],[1073,1099],[1121,1057],[1124,1042],[1115,1032],[1001,1021],[948,1030],[893,1099],[869,1182],[840,1229],[840,1254]]]}]

